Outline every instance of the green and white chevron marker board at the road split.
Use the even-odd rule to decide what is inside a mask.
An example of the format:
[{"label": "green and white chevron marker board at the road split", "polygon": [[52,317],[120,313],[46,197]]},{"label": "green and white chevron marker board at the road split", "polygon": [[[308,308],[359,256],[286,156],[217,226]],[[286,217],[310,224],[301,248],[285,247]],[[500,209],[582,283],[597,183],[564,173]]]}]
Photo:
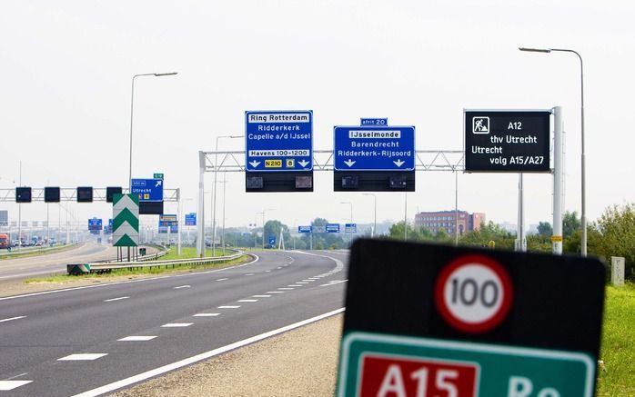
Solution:
[{"label": "green and white chevron marker board at the road split", "polygon": [[113,194],[113,246],[139,245],[139,197]]}]

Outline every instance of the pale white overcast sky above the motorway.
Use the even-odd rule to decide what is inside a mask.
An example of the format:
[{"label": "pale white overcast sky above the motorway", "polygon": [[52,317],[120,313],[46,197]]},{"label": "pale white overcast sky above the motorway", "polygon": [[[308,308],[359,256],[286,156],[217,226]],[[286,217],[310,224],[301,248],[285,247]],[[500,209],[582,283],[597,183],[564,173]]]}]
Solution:
[{"label": "pale white overcast sky above the motorway", "polygon": [[[313,110],[315,150],[332,150],[334,125],[365,116],[415,125],[419,150],[459,150],[464,108],[556,105],[567,133],[565,210],[580,213],[580,64],[517,49],[539,46],[584,58],[594,220],[635,200],[633,16],[630,1],[5,1],[0,189],[18,183],[20,161],[24,185],[126,185],[131,78],[176,71],[136,79],[133,176],[164,173],[185,213],[196,211],[198,151],[244,134],[247,110]],[[219,149],[244,142],[221,139]],[[289,226],[345,223],[340,202],[353,203],[355,222],[372,222],[372,197],[334,193],[332,179],[316,172],[312,194],[246,194],[244,174],[227,174],[227,224],[254,223],[263,209]],[[207,174],[207,191],[212,181]],[[459,207],[515,223],[517,184],[515,174],[459,174]],[[550,222],[551,176],[525,184],[527,222]],[[403,219],[403,193],[377,198],[378,220]],[[71,208],[82,222],[112,216],[106,203]],[[408,218],[453,208],[453,174],[417,173]],[[15,204],[0,209],[17,219]],[[23,205],[23,220],[42,219],[44,203]]]}]

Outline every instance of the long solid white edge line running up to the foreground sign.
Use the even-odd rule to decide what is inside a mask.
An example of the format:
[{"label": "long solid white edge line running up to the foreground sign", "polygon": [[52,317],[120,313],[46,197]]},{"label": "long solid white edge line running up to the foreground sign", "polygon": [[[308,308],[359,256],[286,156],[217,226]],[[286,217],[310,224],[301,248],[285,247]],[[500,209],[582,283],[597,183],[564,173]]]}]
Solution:
[{"label": "long solid white edge line running up to the foreground sign", "polygon": [[96,397],[96,396],[99,396],[99,395],[102,395],[102,394],[106,394],[107,392],[113,392],[113,391],[116,391],[117,389],[121,389],[122,387],[129,386],[129,385],[131,385],[133,383],[142,382],[142,381],[145,381],[146,379],[154,378],[155,376],[161,375],[163,373],[174,371],[174,370],[179,369],[179,368],[183,368],[186,365],[190,365],[190,364],[193,364],[195,362],[200,362],[200,361],[203,361],[203,360],[207,360],[209,358],[217,356],[218,354],[222,354],[224,352],[229,352],[229,351],[237,349],[239,347],[246,346],[247,344],[250,344],[250,343],[262,341],[263,339],[267,339],[267,338],[269,338],[271,336],[280,334],[282,332],[287,332],[287,331],[290,331],[290,330],[294,330],[294,329],[299,328],[301,326],[304,326],[304,325],[307,325],[307,324],[310,324],[310,323],[315,323],[315,322],[317,322],[319,320],[328,318],[330,316],[333,316],[333,315],[336,315],[336,314],[339,314],[339,313],[342,313],[342,312],[344,312],[344,308],[343,307],[338,309],[338,310],[334,310],[332,312],[320,314],[320,315],[318,315],[316,317],[312,317],[310,319],[307,319],[307,320],[304,320],[304,321],[301,321],[301,322],[298,322],[298,323],[289,324],[289,325],[284,326],[282,328],[278,328],[277,330],[261,333],[259,335],[252,336],[251,338],[247,338],[247,339],[244,339],[242,341],[238,341],[238,342],[227,344],[226,346],[219,347],[219,348],[214,349],[214,350],[210,350],[209,352],[202,352],[202,353],[197,354],[195,356],[186,358],[185,360],[181,360],[181,361],[178,361],[178,362],[172,362],[171,364],[167,364],[167,365],[164,365],[162,367],[155,368],[154,370],[150,370],[150,371],[147,371],[147,372],[142,372],[142,373],[136,374],[136,375],[131,376],[129,378],[122,379],[121,381],[108,383],[108,384],[106,384],[104,386],[97,387],[96,389],[92,389],[92,390],[89,390],[89,391],[86,391],[86,392],[82,392],[82,393],[76,394],[73,397]]}]

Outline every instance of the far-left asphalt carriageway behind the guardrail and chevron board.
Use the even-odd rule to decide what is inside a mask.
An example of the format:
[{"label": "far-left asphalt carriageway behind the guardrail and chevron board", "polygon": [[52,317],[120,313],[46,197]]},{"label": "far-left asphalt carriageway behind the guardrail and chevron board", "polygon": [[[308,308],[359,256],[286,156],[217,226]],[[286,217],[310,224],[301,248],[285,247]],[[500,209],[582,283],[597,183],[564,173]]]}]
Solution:
[{"label": "far-left asphalt carriageway behind the guardrail and chevron board", "polygon": [[85,243],[61,253],[28,256],[0,261],[0,282],[43,274],[66,273],[66,264],[116,259],[116,248]]}]

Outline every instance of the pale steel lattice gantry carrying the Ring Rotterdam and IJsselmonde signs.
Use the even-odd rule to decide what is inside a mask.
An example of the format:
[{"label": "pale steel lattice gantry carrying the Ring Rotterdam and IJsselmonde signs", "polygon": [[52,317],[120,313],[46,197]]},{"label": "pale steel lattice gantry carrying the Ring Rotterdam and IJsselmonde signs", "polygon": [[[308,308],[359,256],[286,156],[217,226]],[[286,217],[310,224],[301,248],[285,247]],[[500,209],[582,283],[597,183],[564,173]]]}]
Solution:
[{"label": "pale steel lattice gantry carrying the Ring Rotterdam and IJsselmonde signs", "polygon": [[[334,153],[332,150],[313,151],[313,171],[334,171]],[[245,151],[198,152],[198,211],[197,211],[197,253],[205,253],[205,212],[204,212],[204,174],[205,173],[241,173],[246,171]],[[446,171],[457,173],[465,170],[462,150],[418,150],[415,152],[415,171]],[[455,179],[456,181],[456,179]],[[214,187],[216,190],[216,186]],[[212,209],[216,213],[216,209]],[[212,228],[216,228],[216,220]],[[214,244],[216,242],[212,242]]]}]

